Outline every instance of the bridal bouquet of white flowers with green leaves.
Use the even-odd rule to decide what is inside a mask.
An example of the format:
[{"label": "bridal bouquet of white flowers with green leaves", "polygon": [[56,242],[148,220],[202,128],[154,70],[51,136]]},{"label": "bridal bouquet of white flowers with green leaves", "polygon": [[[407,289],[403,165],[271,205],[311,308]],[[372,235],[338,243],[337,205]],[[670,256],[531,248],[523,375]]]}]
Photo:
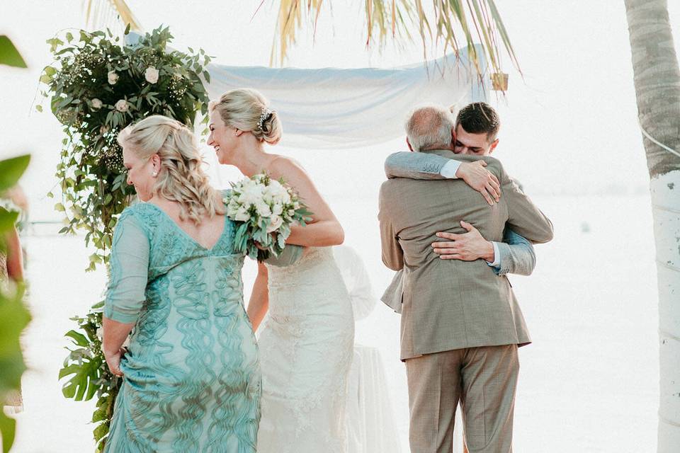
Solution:
[{"label": "bridal bouquet of white flowers with green leaves", "polygon": [[312,212],[283,179],[259,173],[230,184],[232,190],[224,201],[227,217],[237,224],[234,249],[250,258],[261,261],[270,253],[278,256],[290,236],[290,226],[304,226],[311,220]]}]

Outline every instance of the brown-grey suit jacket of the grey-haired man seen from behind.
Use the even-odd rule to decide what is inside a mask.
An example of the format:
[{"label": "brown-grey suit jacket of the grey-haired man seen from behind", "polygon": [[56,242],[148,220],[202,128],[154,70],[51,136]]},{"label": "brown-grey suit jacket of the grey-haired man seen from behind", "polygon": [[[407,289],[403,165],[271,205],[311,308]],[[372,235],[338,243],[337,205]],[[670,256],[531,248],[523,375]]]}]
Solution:
[{"label": "brown-grey suit jacket of the grey-haired man seen from behind", "polygon": [[503,196],[489,207],[463,180],[395,178],[380,188],[382,260],[404,268],[402,359],[477,346],[531,342],[521,310],[504,276],[484,260],[441,260],[432,251],[436,231],[465,232],[470,222],[485,238],[501,241],[506,226],[540,243],[553,238],[553,225],[492,157],[426,151],[448,159],[484,159],[501,181]]}]

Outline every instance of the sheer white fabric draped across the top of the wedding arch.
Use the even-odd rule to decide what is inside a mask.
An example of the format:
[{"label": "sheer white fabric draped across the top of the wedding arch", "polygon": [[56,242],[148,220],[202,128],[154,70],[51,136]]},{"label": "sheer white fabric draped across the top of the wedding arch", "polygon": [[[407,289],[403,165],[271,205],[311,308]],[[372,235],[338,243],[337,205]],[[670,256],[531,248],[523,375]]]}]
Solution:
[{"label": "sheer white fabric draped across the top of the wedding arch", "polygon": [[[482,55],[478,52],[478,55]],[[482,69],[486,63],[482,61]],[[404,118],[423,103],[465,105],[483,101],[467,57],[447,55],[392,69],[297,69],[208,65],[211,99],[233,88],[255,88],[283,121],[286,147],[366,147],[404,135]]]}]

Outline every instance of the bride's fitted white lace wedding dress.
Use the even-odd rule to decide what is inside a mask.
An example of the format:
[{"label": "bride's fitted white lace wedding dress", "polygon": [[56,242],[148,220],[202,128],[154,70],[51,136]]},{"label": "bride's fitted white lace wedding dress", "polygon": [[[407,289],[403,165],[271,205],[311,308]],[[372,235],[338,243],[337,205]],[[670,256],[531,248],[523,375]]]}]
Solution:
[{"label": "bride's fitted white lace wedding dress", "polygon": [[344,453],[354,320],[333,251],[311,248],[293,266],[268,265],[268,273],[257,452]]}]

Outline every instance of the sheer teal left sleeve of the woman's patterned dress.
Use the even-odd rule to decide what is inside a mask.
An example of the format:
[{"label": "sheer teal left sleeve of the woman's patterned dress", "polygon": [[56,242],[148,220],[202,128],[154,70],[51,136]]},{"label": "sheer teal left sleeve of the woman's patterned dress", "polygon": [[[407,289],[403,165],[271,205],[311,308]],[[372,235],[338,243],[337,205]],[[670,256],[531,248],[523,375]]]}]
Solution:
[{"label": "sheer teal left sleeve of the woman's patterned dress", "polygon": [[111,277],[104,316],[120,323],[135,323],[146,300],[149,239],[130,212],[124,212],[115,226],[109,265]]}]

